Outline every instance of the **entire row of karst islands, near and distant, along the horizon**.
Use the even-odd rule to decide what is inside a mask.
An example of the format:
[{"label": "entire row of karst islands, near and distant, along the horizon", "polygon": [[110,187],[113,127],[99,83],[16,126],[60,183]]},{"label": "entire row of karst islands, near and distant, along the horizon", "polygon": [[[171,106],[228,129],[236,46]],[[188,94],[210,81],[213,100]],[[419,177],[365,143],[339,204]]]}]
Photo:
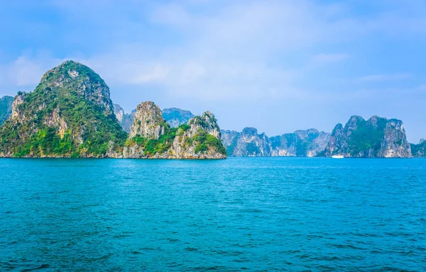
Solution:
[{"label": "entire row of karst islands, near and distant, along the horizon", "polygon": [[[227,155],[226,155],[227,154]],[[220,130],[214,115],[139,104],[125,113],[92,69],[67,61],[31,93],[0,98],[0,157],[224,159],[228,157],[426,157],[403,122],[352,116],[332,133],[297,130],[274,137],[256,128]]]}]

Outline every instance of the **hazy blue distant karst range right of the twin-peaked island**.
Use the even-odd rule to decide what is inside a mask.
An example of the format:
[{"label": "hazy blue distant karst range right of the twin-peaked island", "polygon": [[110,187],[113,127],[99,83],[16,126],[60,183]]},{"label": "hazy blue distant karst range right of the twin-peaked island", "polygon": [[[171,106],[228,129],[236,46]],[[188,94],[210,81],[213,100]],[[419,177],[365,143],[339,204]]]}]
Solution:
[{"label": "hazy blue distant karst range right of the twin-peaked island", "polygon": [[275,137],[259,135],[255,128],[221,132],[229,157],[426,157],[425,140],[410,144],[401,120],[378,116],[368,120],[352,116],[346,125],[336,125],[331,134],[315,129]]}]

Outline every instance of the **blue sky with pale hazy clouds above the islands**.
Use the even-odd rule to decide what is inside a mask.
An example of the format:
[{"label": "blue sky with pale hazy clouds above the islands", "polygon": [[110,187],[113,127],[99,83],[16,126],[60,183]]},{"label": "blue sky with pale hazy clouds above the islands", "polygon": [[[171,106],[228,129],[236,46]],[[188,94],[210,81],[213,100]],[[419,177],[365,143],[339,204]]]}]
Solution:
[{"label": "blue sky with pale hazy clouds above the islands", "polygon": [[143,101],[225,130],[331,132],[351,115],[426,138],[426,0],[15,0],[0,4],[0,96],[65,60],[126,112]]}]

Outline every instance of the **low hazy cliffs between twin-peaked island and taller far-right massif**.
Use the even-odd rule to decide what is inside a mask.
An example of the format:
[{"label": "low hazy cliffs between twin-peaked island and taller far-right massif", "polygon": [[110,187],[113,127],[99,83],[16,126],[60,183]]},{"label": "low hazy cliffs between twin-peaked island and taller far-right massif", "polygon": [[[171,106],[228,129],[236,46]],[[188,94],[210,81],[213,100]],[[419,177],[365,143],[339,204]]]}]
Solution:
[{"label": "low hazy cliffs between twin-peaked island and taller far-right massif", "polygon": [[324,151],[330,134],[318,130],[297,130],[268,138],[254,128],[243,132],[222,131],[222,142],[229,156],[235,157],[315,157]]}]

